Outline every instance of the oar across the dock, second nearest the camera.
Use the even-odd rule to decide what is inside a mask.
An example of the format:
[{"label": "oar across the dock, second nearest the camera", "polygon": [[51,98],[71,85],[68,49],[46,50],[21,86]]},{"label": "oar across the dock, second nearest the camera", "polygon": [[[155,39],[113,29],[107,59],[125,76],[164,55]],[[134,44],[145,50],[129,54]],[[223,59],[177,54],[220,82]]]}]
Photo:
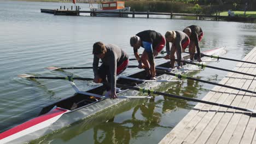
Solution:
[{"label": "oar across the dock, second nearest the camera", "polygon": [[220,86],[220,87],[226,87],[226,88],[231,88],[231,89],[236,89],[238,91],[243,91],[243,92],[248,92],[248,93],[255,93],[256,92],[253,92],[253,91],[249,91],[247,89],[242,89],[242,88],[237,88],[237,87],[231,87],[231,86],[226,86],[226,85],[222,85],[220,83],[216,83],[216,82],[211,82],[211,81],[205,81],[205,80],[200,80],[200,79],[196,79],[194,77],[189,77],[189,76],[186,76],[186,75],[181,75],[181,74],[173,74],[173,73],[169,73],[167,71],[162,71],[162,70],[158,70],[156,69],[156,71],[158,73],[161,73],[161,74],[167,74],[167,75],[172,75],[172,76],[176,76],[178,77],[179,79],[188,79],[188,80],[194,80],[194,81],[199,81],[199,82],[204,82],[204,83],[208,83],[208,84],[211,84],[211,85],[216,85],[216,86]]}]

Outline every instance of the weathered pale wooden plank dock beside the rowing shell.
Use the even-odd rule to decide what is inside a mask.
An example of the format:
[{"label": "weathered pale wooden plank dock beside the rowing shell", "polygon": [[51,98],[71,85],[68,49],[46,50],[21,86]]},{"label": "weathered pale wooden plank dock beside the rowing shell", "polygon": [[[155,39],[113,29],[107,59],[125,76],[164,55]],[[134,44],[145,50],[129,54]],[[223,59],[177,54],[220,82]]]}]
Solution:
[{"label": "weathered pale wooden plank dock beside the rowing shell", "polygon": [[[243,58],[256,62],[256,47]],[[256,64],[237,63],[236,71],[256,74]],[[219,83],[255,92],[253,76],[228,73]],[[202,100],[256,109],[256,94],[216,86]],[[256,116],[250,112],[197,104],[159,143],[256,143]]]}]

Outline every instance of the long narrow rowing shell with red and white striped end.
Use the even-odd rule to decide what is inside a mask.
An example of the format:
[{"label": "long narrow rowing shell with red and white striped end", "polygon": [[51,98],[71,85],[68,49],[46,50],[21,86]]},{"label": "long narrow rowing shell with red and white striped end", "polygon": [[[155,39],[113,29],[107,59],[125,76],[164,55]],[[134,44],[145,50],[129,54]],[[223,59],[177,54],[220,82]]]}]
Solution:
[{"label": "long narrow rowing shell with red and white striped end", "polygon": [[[206,55],[218,55],[220,52],[224,51],[224,48],[211,49],[203,51],[202,53]],[[185,54],[183,59],[188,59],[189,55]],[[206,59],[202,58],[202,61]],[[170,68],[170,62],[166,62],[158,65],[158,67]],[[157,79],[161,75],[157,74]],[[139,71],[136,74],[130,75],[135,79],[146,79],[146,72]],[[143,81],[135,81],[131,79],[118,79],[117,83],[136,86],[142,85]],[[150,85],[152,87],[152,85]],[[98,86],[94,89],[86,91],[87,93],[93,93],[94,95],[103,95],[105,89],[103,86]],[[123,91],[117,93],[126,94],[128,89],[123,89]],[[22,123],[14,128],[4,131],[0,134],[0,143],[22,143],[28,142],[46,134],[49,134],[55,130],[66,127],[69,124],[84,119],[90,115],[94,115],[96,112],[107,109],[114,105],[120,104],[122,101],[127,99],[100,99],[97,100],[92,95],[86,95],[82,93],[75,93],[71,97],[64,98],[56,103],[45,106],[39,113],[39,116],[31,119],[25,123]]]}]

